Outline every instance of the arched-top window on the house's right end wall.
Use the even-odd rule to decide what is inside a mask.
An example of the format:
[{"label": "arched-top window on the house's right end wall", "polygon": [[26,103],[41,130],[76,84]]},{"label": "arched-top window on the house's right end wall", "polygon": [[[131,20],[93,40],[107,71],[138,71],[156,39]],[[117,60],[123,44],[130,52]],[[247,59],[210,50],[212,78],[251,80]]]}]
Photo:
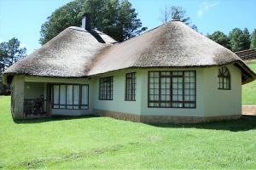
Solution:
[{"label": "arched-top window on the house's right end wall", "polygon": [[230,90],[230,71],[225,66],[218,68],[218,89]]}]

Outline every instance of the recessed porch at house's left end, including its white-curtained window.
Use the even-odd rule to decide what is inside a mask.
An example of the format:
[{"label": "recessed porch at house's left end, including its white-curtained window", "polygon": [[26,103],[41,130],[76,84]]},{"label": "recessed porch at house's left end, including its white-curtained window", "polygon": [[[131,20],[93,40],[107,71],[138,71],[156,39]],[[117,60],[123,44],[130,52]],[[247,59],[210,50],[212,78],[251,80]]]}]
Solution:
[{"label": "recessed porch at house's left end, including its white-curtained window", "polygon": [[15,77],[11,84],[11,111],[15,119],[92,114],[89,84],[42,79],[44,82],[34,77]]}]

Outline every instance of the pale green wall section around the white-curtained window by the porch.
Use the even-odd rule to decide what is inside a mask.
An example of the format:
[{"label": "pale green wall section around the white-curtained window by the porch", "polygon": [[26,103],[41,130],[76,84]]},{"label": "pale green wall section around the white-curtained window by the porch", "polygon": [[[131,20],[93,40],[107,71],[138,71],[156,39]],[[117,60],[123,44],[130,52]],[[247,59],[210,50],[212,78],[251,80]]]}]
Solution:
[{"label": "pale green wall section around the white-curtained window by the porch", "polygon": [[83,115],[92,115],[93,114],[93,103],[94,103],[94,83],[91,79],[88,78],[56,78],[56,77],[25,77],[26,84],[35,84],[41,83],[41,85],[36,86],[35,88],[32,88],[32,91],[30,89],[26,89],[26,91],[30,91],[27,93],[27,95],[37,96],[38,94],[42,94],[41,92],[37,92],[36,94],[33,94],[33,91],[36,90],[36,88],[43,88],[44,87],[44,96],[46,96],[46,84],[47,83],[72,83],[72,84],[88,84],[89,85],[89,109],[88,110],[66,110],[66,109],[51,109],[50,114],[55,115],[63,115],[63,116],[83,116]]}]

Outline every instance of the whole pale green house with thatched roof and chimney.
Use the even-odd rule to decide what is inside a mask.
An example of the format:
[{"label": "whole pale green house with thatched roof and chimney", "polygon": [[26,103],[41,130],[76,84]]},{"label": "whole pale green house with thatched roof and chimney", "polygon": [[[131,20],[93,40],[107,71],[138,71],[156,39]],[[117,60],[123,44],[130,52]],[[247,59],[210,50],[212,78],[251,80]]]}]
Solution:
[{"label": "whole pale green house with thatched roof and chimney", "polygon": [[241,116],[255,73],[229,49],[173,20],[125,42],[68,27],[9,67],[14,119],[110,116],[133,122],[209,122]]}]

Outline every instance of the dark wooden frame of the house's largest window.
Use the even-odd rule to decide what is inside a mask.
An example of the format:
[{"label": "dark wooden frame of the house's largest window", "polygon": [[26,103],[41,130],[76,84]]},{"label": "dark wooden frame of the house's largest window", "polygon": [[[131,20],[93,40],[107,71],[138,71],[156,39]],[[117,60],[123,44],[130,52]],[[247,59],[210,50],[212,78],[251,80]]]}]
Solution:
[{"label": "dark wooden frame of the house's largest window", "polygon": [[[151,89],[151,88],[149,88],[149,86],[150,86],[150,72],[159,72],[159,82],[158,82],[158,89],[159,89],[159,94],[158,94],[158,103],[159,103],[159,105],[158,106],[150,106],[149,105],[149,103],[150,102],[154,102],[154,100],[153,101],[151,101],[151,100],[149,100],[150,99],[150,94],[149,94],[149,90]],[[175,71],[168,71],[168,72],[170,72],[170,76],[162,76],[162,77],[170,77],[171,78],[171,82],[170,82],[170,104],[171,104],[171,106],[169,106],[169,107],[163,107],[163,106],[160,106],[160,103],[162,102],[162,103],[164,103],[164,102],[166,102],[167,103],[167,101],[165,100],[165,101],[161,101],[160,100],[160,95],[161,95],[161,93],[160,93],[160,90],[161,90],[161,82],[160,82],[160,78],[161,78],[161,75],[160,75],[160,73],[161,72],[164,72],[164,71],[148,71],[148,108],[177,108],[177,109],[196,109],[196,71],[193,71],[194,72],[194,75],[195,75],[195,82],[194,82],[194,89],[195,89],[195,94],[194,94],[194,97],[195,97],[195,101],[193,101],[193,102],[191,102],[191,101],[184,101],[184,96],[185,96],[185,93],[184,93],[184,90],[185,90],[185,82],[184,82],[184,72],[185,71],[182,71],[183,72],[183,75],[182,76],[173,76],[172,75],[172,72],[175,72]],[[167,72],[167,71],[166,71]],[[172,90],[173,90],[173,84],[172,84],[172,77],[183,77],[183,101],[181,102],[181,101],[179,101],[179,102],[177,102],[177,101],[173,101],[172,100]],[[189,82],[190,83],[190,82]],[[167,88],[166,88],[167,89]],[[191,88],[189,88],[189,89],[191,89]],[[193,89],[193,88],[192,88]],[[167,94],[166,94],[167,95]],[[178,95],[178,94],[177,94]],[[173,105],[173,103],[182,103],[183,104],[183,107],[173,107],[172,105]],[[184,106],[184,104],[186,104],[186,103],[189,103],[189,104],[194,104],[195,106],[194,107],[185,107]]]}]

